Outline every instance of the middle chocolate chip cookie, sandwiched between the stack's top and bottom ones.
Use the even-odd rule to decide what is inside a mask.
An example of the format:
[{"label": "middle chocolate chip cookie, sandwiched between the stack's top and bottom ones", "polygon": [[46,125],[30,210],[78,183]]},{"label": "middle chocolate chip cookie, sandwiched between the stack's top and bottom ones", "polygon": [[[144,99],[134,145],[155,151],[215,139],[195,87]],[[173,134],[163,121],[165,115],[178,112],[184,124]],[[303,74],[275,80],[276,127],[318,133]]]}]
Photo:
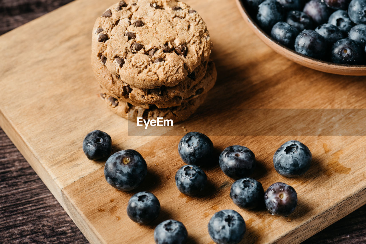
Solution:
[{"label": "middle chocolate chip cookie, sandwiched between the stack's top and bottom ones", "polygon": [[[93,57],[91,63],[97,80],[105,90],[116,95],[122,101],[130,102],[143,108],[149,108],[149,104],[155,104],[158,108],[178,106],[186,98],[192,98],[209,91],[217,78],[215,65],[212,61],[209,61],[207,68],[200,72],[205,75],[199,82],[193,80],[194,77],[191,76],[176,86],[140,89],[127,85],[115,75],[109,74],[107,69]],[[206,70],[207,72],[205,72]]]}]

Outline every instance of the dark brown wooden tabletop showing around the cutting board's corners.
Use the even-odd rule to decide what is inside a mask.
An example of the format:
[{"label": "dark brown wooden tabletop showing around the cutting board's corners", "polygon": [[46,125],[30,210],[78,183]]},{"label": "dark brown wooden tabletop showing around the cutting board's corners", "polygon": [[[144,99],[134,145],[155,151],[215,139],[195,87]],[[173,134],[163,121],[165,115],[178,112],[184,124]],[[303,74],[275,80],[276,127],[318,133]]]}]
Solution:
[{"label": "dark brown wooden tabletop showing around the cutting board's corners", "polygon": [[[0,0],[0,35],[70,1]],[[88,243],[1,128],[0,243]],[[308,243],[366,243],[366,205]]]}]

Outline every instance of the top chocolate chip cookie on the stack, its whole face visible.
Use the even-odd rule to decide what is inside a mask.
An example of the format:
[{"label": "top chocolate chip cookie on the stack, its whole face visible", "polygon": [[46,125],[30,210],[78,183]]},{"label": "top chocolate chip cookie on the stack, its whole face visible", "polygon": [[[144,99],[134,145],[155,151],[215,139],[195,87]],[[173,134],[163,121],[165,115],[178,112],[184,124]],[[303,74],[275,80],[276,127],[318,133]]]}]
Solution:
[{"label": "top chocolate chip cookie on the stack, its whole face visible", "polygon": [[92,53],[109,73],[141,89],[176,86],[212,49],[206,24],[176,0],[121,1],[93,28]]}]

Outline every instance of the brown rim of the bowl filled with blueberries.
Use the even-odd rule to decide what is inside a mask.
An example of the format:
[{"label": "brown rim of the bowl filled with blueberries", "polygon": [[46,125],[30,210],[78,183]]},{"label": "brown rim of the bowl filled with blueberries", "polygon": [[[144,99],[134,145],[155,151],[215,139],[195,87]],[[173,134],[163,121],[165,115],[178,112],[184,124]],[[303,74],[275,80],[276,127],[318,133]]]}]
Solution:
[{"label": "brown rim of the bowl filled with blueberries", "polygon": [[[290,52],[293,55],[293,58],[295,58],[295,56],[299,56],[303,59],[303,61],[305,61],[306,63],[309,63],[309,64],[316,63],[316,64],[322,64],[322,66],[328,66],[328,67],[329,66],[336,66],[336,67],[343,68],[343,69],[346,69],[346,70],[358,70],[358,71],[365,71],[366,72],[366,65],[338,64],[338,63],[332,63],[332,62],[328,62],[328,61],[324,61],[324,60],[320,60],[320,59],[314,59],[312,57],[309,57],[309,56],[303,55],[301,53],[298,53],[295,50],[280,44],[278,41],[274,40],[270,35],[265,33],[265,31],[262,30],[262,28],[259,27],[257,25],[257,23],[255,23],[255,21],[253,20],[253,18],[249,14],[249,12],[246,10],[246,7],[244,6],[243,0],[236,0],[236,3],[239,7],[239,10],[242,10],[240,12],[242,12],[244,20],[246,20],[251,25],[250,27],[252,27],[251,28],[252,30],[253,30],[253,28],[255,29],[255,30],[253,30],[254,33],[257,34],[258,37],[262,41],[264,41],[263,38],[267,39],[269,42],[272,42],[273,44],[276,44],[279,48],[283,48],[283,49],[287,50],[287,52]],[[266,42],[266,41],[264,41],[264,43],[266,45],[269,45],[269,43]],[[270,46],[270,48],[272,48],[272,47]],[[273,50],[275,50],[277,52],[276,49],[273,49]],[[285,53],[280,53],[280,55],[284,55],[284,54]],[[288,59],[290,59],[292,61],[295,61],[295,60],[291,59],[291,57],[288,57],[288,56],[285,56],[285,57],[287,57]]]}]

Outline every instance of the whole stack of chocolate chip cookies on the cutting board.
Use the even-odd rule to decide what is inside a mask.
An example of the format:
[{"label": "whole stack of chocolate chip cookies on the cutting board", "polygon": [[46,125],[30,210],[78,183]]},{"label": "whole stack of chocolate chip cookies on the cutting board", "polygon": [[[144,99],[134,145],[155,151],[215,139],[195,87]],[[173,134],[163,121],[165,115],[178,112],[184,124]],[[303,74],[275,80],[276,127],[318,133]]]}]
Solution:
[{"label": "whole stack of chocolate chip cookies on the cutting board", "polygon": [[176,0],[112,5],[93,28],[91,65],[101,98],[129,120],[187,119],[216,82],[209,32]]}]

